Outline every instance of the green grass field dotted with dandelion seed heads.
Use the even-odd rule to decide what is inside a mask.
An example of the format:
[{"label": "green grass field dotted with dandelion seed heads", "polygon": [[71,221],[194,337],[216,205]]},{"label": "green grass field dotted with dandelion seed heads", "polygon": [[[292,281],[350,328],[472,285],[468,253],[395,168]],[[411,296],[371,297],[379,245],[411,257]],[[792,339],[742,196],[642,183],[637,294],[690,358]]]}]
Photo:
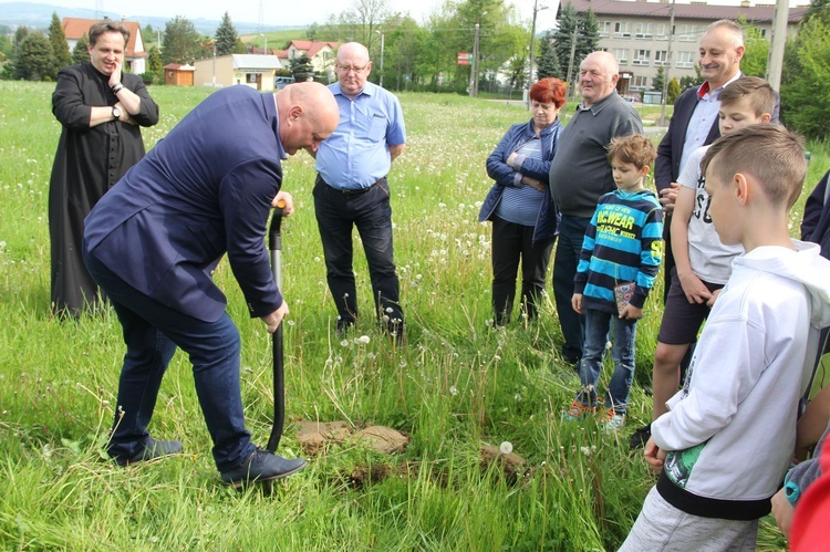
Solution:
[{"label": "green grass field dotted with dandelion seed heads", "polygon": [[[299,420],[381,424],[411,442],[392,456],[350,439],[331,444],[267,497],[221,485],[180,354],[151,429],[183,439],[186,454],[126,469],[104,459],[124,348],[112,312],[79,323],[50,316],[46,197],[60,134],[52,90],[0,82],[0,550],[581,551],[622,542],[654,481],[626,444],[650,416],[644,385],[661,305],[650,300],[639,325],[637,383],[619,436],[593,420],[561,421],[578,377],[556,353],[561,336],[550,304],[538,322],[489,327],[490,227],[477,221],[490,186],[485,158],[527,112],[459,96],[401,97],[407,148],[390,181],[408,319],[403,350],[365,315],[371,288],[360,254],[364,317],[355,339],[334,334],[311,198],[313,160],[301,153],[284,163],[283,189],[294,195],[297,213],[283,223],[291,314],[280,452],[302,455]],[[209,90],[151,93],[162,119],[145,131],[148,147]],[[830,166],[826,145],[810,149],[808,188]],[[803,197],[793,235],[802,204]],[[264,445],[270,339],[248,317],[227,263],[216,278],[242,335],[249,429]],[[483,461],[481,447],[502,441],[525,459],[518,470]],[[759,549],[782,550],[770,520]]]}]

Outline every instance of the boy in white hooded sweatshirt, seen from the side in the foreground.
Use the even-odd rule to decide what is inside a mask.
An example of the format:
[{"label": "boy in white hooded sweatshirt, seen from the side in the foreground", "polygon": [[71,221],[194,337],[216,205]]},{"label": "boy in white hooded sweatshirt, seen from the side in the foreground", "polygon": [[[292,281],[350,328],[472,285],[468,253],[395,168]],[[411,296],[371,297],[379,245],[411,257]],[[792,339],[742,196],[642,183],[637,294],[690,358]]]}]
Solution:
[{"label": "boy in white hooded sweatshirt, seen from the side in the foreground", "polygon": [[807,168],[802,142],[751,125],[718,139],[701,165],[720,241],[746,253],[683,389],[652,424],[645,457],[662,472],[624,551],[755,550],[758,519],[792,457],[819,330],[830,325],[830,261],[789,237]]}]

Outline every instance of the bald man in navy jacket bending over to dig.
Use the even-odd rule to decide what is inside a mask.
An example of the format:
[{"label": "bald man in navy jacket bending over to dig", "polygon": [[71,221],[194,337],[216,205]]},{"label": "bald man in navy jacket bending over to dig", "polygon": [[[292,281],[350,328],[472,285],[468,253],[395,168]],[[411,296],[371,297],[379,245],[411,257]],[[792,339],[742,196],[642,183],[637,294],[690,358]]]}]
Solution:
[{"label": "bald man in navy jacket bending over to dig", "polygon": [[98,201],[86,218],[83,253],[110,298],[127,352],[108,454],[118,464],[181,451],[156,440],[153,416],[176,347],[193,363],[196,392],[222,480],[236,487],[288,476],[305,466],[255,447],[245,427],[240,340],[212,281],[221,257],[251,317],[270,333],[288,306],[264,246],[280,191],[280,159],[315,150],[339,122],[331,92],[317,83],[262,94],[247,86],[215,92],[170,131]]}]

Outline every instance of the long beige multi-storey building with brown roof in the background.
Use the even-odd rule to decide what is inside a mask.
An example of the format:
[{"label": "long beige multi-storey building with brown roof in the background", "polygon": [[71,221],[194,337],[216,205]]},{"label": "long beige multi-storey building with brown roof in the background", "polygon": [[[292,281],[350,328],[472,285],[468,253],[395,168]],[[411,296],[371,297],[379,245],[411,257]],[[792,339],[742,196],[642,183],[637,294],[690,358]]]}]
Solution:
[{"label": "long beige multi-storey building with brown roof in the background", "polygon": [[[705,1],[675,3],[670,60],[670,2],[563,0],[561,7],[569,3],[580,14],[593,10],[600,25],[600,49],[611,52],[620,61],[618,88],[621,94],[633,96],[652,90],[652,81],[660,67],[665,67],[668,79],[694,76],[701,37],[709,23],[720,19],[743,19],[769,40],[775,18],[775,3],[751,6],[746,0],[741,6],[716,6]],[[788,35],[796,33],[806,11],[807,7],[789,10]]]}]

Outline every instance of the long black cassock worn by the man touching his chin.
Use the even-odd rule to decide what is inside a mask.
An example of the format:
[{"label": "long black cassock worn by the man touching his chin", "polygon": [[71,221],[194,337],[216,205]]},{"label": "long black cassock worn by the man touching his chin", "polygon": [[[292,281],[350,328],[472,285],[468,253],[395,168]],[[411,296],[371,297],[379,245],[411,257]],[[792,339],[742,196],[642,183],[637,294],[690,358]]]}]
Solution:
[{"label": "long black cassock worn by the man touching his chin", "polygon": [[138,123],[112,121],[90,128],[94,106],[118,102],[110,76],[86,62],[63,67],[52,94],[52,113],[63,129],[49,187],[49,236],[52,260],[52,310],[77,316],[97,299],[97,287],[81,258],[84,218],[101,197],[144,157],[142,126],[158,123],[158,105],[137,75],[123,73],[122,84],[142,98]]}]

